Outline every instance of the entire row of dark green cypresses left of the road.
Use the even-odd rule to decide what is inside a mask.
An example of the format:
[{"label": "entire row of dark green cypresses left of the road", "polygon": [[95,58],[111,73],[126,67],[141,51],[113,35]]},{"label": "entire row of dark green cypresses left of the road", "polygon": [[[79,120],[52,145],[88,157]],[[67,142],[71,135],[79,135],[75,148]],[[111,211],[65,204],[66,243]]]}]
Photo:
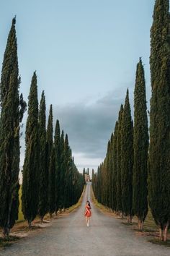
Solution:
[{"label": "entire row of dark green cypresses left of the road", "polygon": [[84,188],[84,176],[80,174],[72,156],[68,135],[55,122],[53,132],[53,106],[50,105],[46,127],[45,93],[40,104],[37,97],[37,74],[30,85],[28,106],[19,95],[16,18],[4,52],[0,84],[0,226],[4,236],[18,219],[20,128],[27,109],[25,132],[25,156],[22,170],[22,212],[31,226],[38,215],[57,213],[75,204]]}]

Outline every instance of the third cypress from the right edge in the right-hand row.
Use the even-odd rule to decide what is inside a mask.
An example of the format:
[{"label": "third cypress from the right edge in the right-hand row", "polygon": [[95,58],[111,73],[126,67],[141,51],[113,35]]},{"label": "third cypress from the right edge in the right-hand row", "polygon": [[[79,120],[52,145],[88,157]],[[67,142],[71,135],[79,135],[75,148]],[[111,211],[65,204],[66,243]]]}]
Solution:
[{"label": "third cypress from the right edge in the right-hand row", "polygon": [[133,211],[133,121],[127,90],[121,125],[122,211],[131,222]]}]

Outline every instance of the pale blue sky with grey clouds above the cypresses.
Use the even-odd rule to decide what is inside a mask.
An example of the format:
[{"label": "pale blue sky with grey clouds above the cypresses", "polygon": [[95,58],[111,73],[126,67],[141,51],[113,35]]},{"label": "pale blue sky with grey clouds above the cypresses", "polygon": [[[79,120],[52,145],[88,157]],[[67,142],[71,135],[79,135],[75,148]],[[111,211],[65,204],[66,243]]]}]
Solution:
[{"label": "pale blue sky with grey clouds above the cypresses", "polygon": [[[0,0],[0,62],[17,16],[20,92],[27,101],[33,72],[68,134],[79,171],[104,160],[127,88],[133,115],[135,70],[142,57],[148,104],[150,29],[155,0]],[[27,115],[24,116],[24,127]],[[48,117],[47,117],[48,118]],[[21,138],[21,166],[24,135]]]}]

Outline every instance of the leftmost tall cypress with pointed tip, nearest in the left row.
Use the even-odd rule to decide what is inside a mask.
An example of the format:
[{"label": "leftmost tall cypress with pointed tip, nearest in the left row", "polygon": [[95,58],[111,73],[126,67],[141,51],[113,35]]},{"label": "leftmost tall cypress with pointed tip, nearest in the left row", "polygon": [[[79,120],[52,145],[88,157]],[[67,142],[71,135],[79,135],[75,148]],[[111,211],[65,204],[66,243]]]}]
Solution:
[{"label": "leftmost tall cypress with pointed tip, nearest in the left row", "polygon": [[4,53],[0,84],[0,226],[5,236],[9,236],[18,218],[19,122],[26,108],[22,95],[19,98],[15,23],[14,18]]}]

